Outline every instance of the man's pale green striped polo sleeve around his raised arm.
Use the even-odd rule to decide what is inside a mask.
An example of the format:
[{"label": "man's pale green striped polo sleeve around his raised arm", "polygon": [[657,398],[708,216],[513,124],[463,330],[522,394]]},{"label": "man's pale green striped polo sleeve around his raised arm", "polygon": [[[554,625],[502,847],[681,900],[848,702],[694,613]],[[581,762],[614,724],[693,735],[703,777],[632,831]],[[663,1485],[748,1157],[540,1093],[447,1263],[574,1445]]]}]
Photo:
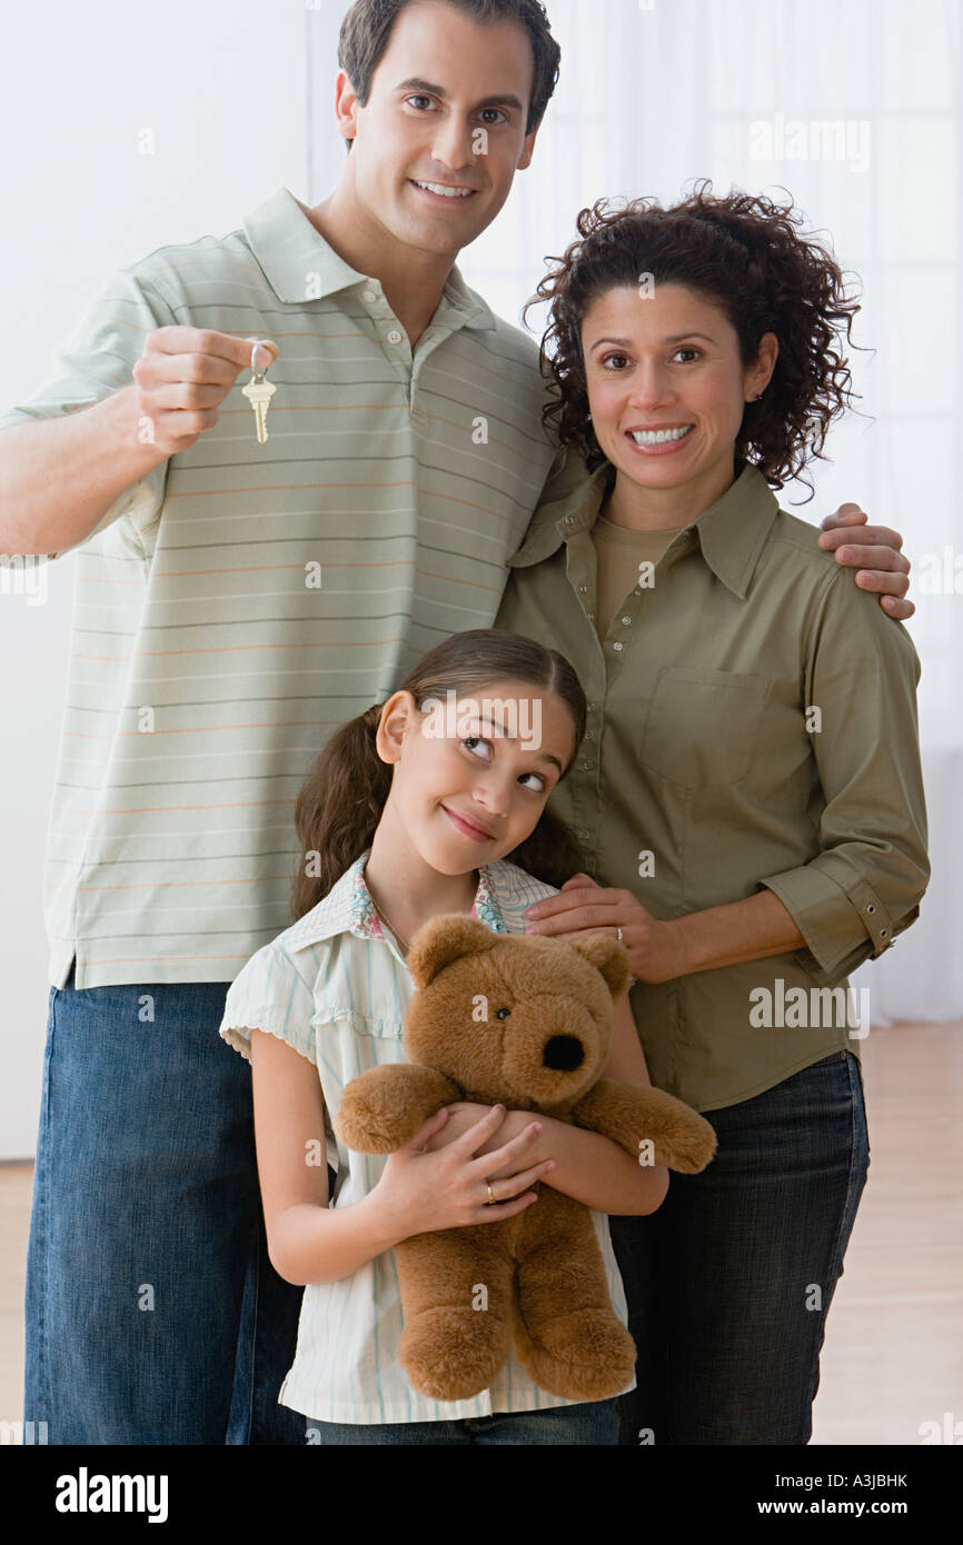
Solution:
[{"label": "man's pale green striped polo sleeve around his raised arm", "polygon": [[[17,423],[80,413],[133,385],[133,368],[144,354],[147,334],[176,323],[173,307],[148,280],[134,269],[119,269],[74,323],[56,354],[51,379],[32,397],[0,414],[0,434]],[[144,555],[150,556],[164,502],[167,468],[168,460],[159,462],[117,494],[82,542],[56,553],[31,555],[31,561],[46,562],[74,552],[124,518],[130,519],[131,535]],[[20,555],[0,553],[3,567],[20,562]]]}]

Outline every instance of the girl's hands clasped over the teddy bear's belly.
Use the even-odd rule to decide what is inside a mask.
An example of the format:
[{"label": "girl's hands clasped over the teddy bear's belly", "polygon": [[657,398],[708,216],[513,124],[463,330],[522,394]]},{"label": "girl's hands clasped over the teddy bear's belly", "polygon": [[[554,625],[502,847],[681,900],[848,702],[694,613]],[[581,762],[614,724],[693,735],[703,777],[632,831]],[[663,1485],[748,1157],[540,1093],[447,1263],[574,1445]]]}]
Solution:
[{"label": "girl's hands clasped over the teddy bear's belly", "polygon": [[[397,1239],[467,1224],[496,1224],[504,1217],[515,1217],[538,1199],[538,1193],[527,1187],[553,1168],[553,1159],[518,1170],[516,1174],[492,1177],[524,1160],[541,1134],[541,1122],[530,1122],[518,1137],[476,1157],[478,1149],[495,1137],[505,1115],[505,1106],[495,1105],[453,1142],[430,1149],[428,1140],[448,1120],[448,1109],[442,1106],[405,1148],[388,1156],[382,1177],[369,1196],[377,1199],[379,1210],[383,1210]],[[488,1185],[493,1202],[488,1200]]]}]

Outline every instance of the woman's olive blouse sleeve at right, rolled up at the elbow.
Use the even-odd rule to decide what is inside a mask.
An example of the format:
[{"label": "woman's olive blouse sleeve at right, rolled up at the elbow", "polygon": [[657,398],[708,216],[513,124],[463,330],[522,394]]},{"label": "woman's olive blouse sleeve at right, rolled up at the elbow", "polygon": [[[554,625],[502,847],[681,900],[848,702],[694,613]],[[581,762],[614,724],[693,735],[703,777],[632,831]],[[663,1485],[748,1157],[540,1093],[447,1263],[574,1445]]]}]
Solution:
[{"label": "woman's olive blouse sleeve at right, rolled up at the elbow", "polygon": [[821,851],[767,874],[805,939],[821,983],[889,949],[920,916],[929,882],[920,765],[920,660],[901,623],[836,570],[815,604],[805,708],[825,805]]}]

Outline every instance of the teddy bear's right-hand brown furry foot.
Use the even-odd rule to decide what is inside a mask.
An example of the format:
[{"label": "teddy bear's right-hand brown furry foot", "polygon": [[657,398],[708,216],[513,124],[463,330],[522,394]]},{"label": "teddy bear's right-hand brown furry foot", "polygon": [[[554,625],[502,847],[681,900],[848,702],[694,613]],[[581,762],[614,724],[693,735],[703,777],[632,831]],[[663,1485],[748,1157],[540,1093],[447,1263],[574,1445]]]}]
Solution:
[{"label": "teddy bear's right-hand brown furry foot", "polygon": [[609,1400],[632,1383],[635,1343],[611,1309],[577,1310],[519,1332],[519,1361],[553,1395]]}]

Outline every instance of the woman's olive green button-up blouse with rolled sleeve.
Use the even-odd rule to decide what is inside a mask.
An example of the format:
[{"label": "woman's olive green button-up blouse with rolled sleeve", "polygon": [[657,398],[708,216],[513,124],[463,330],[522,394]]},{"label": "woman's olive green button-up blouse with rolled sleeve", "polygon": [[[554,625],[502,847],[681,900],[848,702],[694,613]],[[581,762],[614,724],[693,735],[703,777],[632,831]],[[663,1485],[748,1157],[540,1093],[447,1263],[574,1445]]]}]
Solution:
[{"label": "woman's olive green button-up blouse with rolled sleeve", "polygon": [[600,641],[601,467],[536,510],[495,621],[578,671],[587,732],[549,808],[586,871],[657,918],[768,887],[805,939],[632,987],[652,1082],[703,1111],[859,1054],[866,1004],[846,972],[914,922],[929,878],[910,637],[756,467],[737,471]]}]

